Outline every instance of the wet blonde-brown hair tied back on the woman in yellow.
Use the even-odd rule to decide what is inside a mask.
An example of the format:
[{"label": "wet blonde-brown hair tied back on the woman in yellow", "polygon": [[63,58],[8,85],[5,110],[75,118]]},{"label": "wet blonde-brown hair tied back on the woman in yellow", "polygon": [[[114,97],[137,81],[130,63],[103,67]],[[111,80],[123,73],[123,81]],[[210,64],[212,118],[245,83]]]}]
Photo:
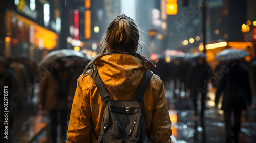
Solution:
[{"label": "wet blonde-brown hair tied back on the woman in yellow", "polygon": [[[83,71],[86,73],[88,67],[106,53],[136,53],[139,44],[139,29],[136,23],[125,14],[117,15],[104,32],[101,39],[100,54],[88,63]],[[142,48],[142,46],[140,45]]]}]

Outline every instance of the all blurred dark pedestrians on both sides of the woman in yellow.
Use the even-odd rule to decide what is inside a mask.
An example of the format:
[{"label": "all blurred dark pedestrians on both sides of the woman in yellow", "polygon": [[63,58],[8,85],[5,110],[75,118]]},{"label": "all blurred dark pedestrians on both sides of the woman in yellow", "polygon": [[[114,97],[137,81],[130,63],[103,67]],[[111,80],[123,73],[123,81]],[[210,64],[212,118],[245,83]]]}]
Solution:
[{"label": "all blurred dark pedestrians on both sides of the woman in yellow", "polygon": [[[227,140],[238,140],[241,123],[241,110],[248,110],[251,103],[250,79],[255,81],[255,64],[243,60],[222,61],[212,70],[205,58],[182,59],[174,58],[170,63],[159,60],[155,69],[152,69],[164,82],[166,88],[170,81],[174,81],[174,95],[185,96],[190,93],[189,99],[194,104],[194,115],[198,115],[197,100],[201,100],[200,120],[203,121],[205,99],[207,98],[208,84],[216,88],[215,103],[218,105],[219,97],[223,94],[222,107],[226,124]],[[55,67],[42,70],[38,68],[33,59],[26,58],[0,58],[0,85],[1,89],[8,86],[9,91],[9,128],[12,130],[15,117],[22,102],[29,102],[33,97],[35,77],[39,72],[45,72],[46,77],[40,78],[39,109],[48,110],[51,120],[51,141],[56,142],[58,121],[61,125],[60,136],[66,140],[67,121],[76,88],[76,80],[81,75],[86,63],[75,61],[72,63],[57,61]],[[247,66],[249,65],[249,68]],[[251,71],[249,71],[251,70]],[[254,77],[254,78],[253,78]],[[60,87],[60,83],[63,87]],[[254,82],[255,84],[255,82]],[[68,90],[64,90],[64,89]],[[65,95],[59,97],[58,90],[64,90]],[[2,94],[2,93],[1,93]],[[63,94],[63,93],[62,93]],[[1,100],[3,100],[2,98]],[[3,101],[2,101],[3,102]],[[4,109],[1,106],[1,113]],[[231,114],[234,113],[234,127],[231,125]],[[59,118],[58,118],[59,117]],[[3,120],[2,120],[3,121]],[[3,124],[2,124],[3,125]],[[1,129],[4,127],[1,126]],[[202,124],[202,128],[203,124]],[[2,136],[1,136],[2,137]],[[3,138],[1,138],[4,140]]]}]

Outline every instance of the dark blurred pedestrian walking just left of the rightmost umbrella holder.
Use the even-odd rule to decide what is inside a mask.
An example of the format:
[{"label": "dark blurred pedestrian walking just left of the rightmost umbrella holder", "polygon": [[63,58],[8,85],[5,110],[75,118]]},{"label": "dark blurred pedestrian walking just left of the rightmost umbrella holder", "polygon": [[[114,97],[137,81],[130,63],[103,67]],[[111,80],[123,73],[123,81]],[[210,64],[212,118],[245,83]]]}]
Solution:
[{"label": "dark blurred pedestrian walking just left of the rightmost umbrella holder", "polygon": [[193,98],[195,116],[197,116],[197,98],[201,94],[201,113],[200,119],[203,121],[205,97],[208,91],[208,82],[211,76],[211,69],[205,61],[205,58],[197,58],[197,64],[191,67],[189,72],[190,97]]}]

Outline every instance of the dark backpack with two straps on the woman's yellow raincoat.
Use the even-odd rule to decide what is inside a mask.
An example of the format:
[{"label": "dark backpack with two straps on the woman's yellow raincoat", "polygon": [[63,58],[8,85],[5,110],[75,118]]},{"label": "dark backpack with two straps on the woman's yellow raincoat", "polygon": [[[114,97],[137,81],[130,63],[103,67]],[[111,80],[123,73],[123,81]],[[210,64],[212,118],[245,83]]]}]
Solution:
[{"label": "dark backpack with two straps on the woman's yellow raincoat", "polygon": [[101,123],[101,134],[98,143],[106,142],[149,142],[145,131],[145,120],[142,115],[139,102],[150,82],[152,71],[146,70],[140,82],[138,92],[134,101],[132,100],[111,100],[106,87],[102,82],[97,68],[90,70],[96,87],[100,93],[102,102],[106,108]]}]

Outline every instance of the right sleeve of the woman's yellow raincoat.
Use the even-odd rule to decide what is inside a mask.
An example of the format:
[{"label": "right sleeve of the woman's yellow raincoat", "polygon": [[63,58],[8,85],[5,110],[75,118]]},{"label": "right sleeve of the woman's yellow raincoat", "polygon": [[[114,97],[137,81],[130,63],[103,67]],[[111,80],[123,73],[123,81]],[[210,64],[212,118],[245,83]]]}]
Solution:
[{"label": "right sleeve of the woman's yellow raincoat", "polygon": [[150,136],[148,136],[150,142],[170,142],[171,124],[163,83],[161,83],[158,99],[153,106]]}]

